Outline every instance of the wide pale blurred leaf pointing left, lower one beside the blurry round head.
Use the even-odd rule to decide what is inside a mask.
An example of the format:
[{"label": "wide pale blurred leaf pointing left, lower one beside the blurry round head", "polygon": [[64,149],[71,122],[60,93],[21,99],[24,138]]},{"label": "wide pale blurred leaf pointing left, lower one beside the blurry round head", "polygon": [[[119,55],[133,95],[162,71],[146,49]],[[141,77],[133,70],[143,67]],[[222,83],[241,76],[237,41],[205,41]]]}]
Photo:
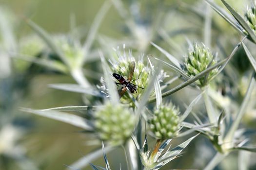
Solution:
[{"label": "wide pale blurred leaf pointing left, lower one beside the blurry round head", "polygon": [[72,124],[74,126],[92,131],[93,127],[86,122],[86,119],[79,117],[77,115],[72,115],[65,112],[59,112],[59,111],[42,111],[42,110],[34,110],[29,108],[22,108],[21,111],[33,113],[39,116],[43,116],[50,119],[59,120],[65,123]]}]

